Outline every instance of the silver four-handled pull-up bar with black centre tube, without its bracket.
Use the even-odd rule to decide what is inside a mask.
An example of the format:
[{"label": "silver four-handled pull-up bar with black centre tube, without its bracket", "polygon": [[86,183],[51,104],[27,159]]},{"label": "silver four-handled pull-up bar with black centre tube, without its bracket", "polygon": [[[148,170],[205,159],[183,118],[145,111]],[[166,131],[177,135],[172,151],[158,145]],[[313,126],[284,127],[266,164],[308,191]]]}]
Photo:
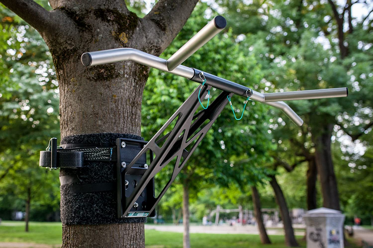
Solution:
[{"label": "silver four-handled pull-up bar with black centre tube, without its bracket", "polygon": [[[198,48],[206,44],[206,42],[213,38],[214,35],[223,30],[225,25],[226,21],[224,17],[216,16],[167,60],[134,48],[116,48],[103,51],[85,52],[82,54],[81,61],[85,66],[119,61],[134,61],[142,65],[147,65],[148,67],[187,78],[197,83],[202,83],[203,81],[199,77],[199,74],[203,71],[186,67],[181,65],[181,63],[197,51]],[[303,120],[283,101],[346,97],[348,95],[347,88],[260,93],[241,84],[217,77],[216,75],[206,72],[203,72],[203,74],[206,77],[208,85],[245,98],[250,97],[251,100],[281,109],[298,126],[303,125]]]}]

